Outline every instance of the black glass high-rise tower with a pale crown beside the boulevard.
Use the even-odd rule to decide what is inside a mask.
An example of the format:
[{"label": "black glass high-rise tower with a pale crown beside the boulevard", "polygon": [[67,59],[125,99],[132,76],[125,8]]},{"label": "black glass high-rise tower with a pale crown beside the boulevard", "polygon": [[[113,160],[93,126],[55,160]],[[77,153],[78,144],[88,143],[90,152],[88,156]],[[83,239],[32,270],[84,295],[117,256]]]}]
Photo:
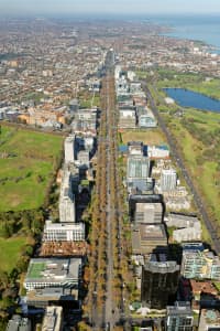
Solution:
[{"label": "black glass high-rise tower with a pale crown beside the boulevard", "polygon": [[165,309],[177,291],[179,265],[176,261],[150,260],[142,267],[142,306]]}]

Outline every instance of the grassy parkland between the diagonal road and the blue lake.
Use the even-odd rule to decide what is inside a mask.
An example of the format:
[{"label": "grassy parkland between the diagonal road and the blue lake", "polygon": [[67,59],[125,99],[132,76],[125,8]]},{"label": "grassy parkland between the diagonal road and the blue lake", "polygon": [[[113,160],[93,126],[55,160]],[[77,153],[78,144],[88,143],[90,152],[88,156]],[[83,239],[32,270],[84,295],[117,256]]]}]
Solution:
[{"label": "grassy parkland between the diagonal road and the blue lake", "polygon": [[[182,119],[167,114],[165,118],[169,129],[178,141],[179,150],[185,158],[197,188],[205,199],[208,210],[212,214],[212,217],[218,220],[220,224],[220,205],[218,203],[220,196],[218,140],[212,141],[212,157],[205,158],[204,151],[210,149],[211,146],[202,142],[194,132],[189,132],[182,124]],[[193,121],[195,128],[200,131],[200,137],[202,137],[211,135],[215,130],[219,129],[220,114],[189,108],[186,110],[184,119],[186,122]],[[202,159],[201,164],[198,161],[199,159]]]}]

